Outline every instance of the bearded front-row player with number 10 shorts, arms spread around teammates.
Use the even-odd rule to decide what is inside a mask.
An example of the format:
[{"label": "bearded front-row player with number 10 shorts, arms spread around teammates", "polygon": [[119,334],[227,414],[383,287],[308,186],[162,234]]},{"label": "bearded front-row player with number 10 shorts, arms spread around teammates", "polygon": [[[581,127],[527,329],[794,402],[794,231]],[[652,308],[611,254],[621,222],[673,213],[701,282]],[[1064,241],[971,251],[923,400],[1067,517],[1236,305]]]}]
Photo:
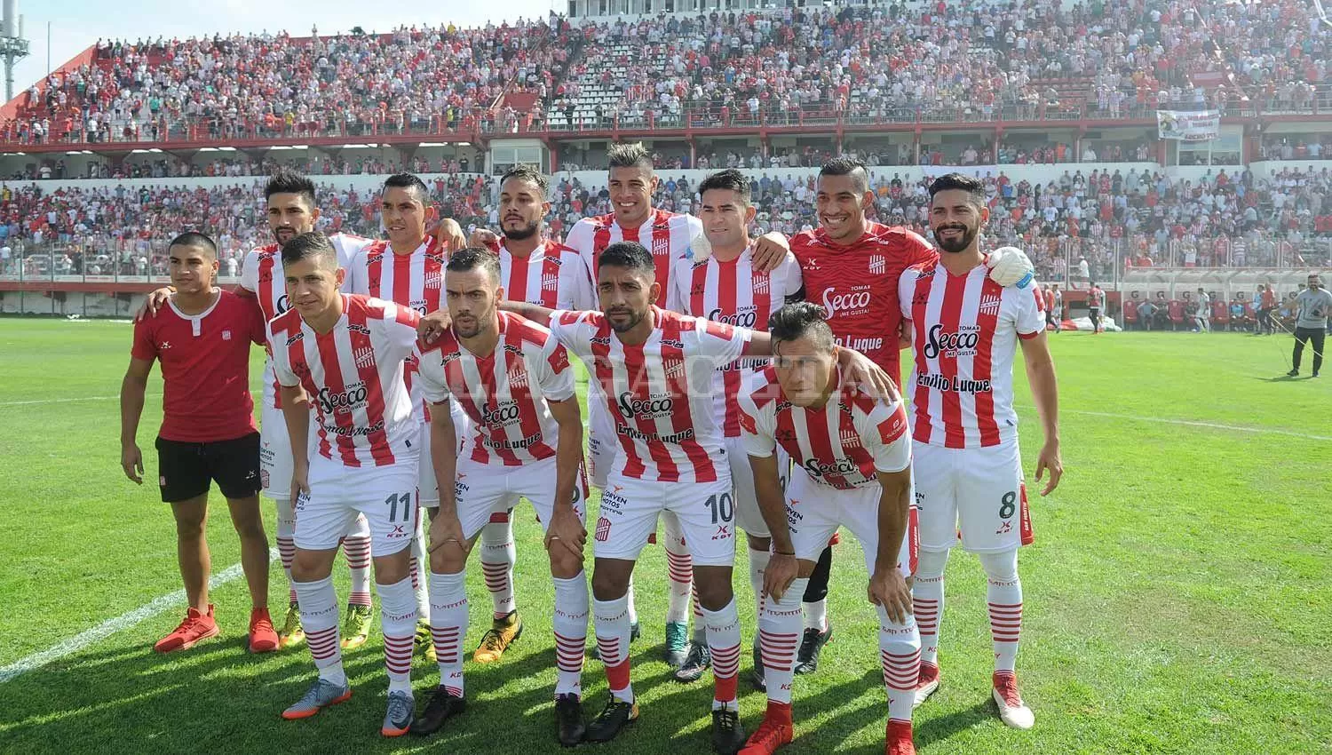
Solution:
[{"label": "bearded front-row player with number 10 shorts, arms spread around teammates", "polygon": [[[717,368],[742,356],[771,356],[769,336],[653,306],[659,284],[653,256],[639,244],[607,246],[597,276],[602,312],[502,305],[549,322],[559,342],[587,365],[619,443],[601,501],[593,574],[597,644],[610,700],[587,726],[586,738],[609,742],[638,718],[629,680],[629,575],[658,515],[674,511],[693,551],[711,648],[713,748],[733,754],[745,743],[735,700],[741,650],[731,590],[735,502],[709,389]],[[848,352],[846,361],[878,391],[891,390],[887,374],[863,356]]]}]

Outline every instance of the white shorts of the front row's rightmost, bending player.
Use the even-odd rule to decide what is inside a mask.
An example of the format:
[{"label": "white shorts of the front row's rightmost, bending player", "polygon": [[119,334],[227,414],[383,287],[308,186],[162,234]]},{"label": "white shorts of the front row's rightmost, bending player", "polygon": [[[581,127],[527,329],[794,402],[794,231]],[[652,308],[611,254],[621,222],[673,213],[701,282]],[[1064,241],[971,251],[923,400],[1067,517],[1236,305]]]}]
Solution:
[{"label": "white shorts of the front row's rightmost, bending player", "polygon": [[[879,554],[879,498],[883,489],[868,485],[855,490],[839,490],[810,479],[803,471],[791,474],[786,486],[786,523],[791,530],[795,558],[818,561],[823,549],[839,526],[851,530],[864,551],[864,569],[874,573]],[[903,577],[915,573],[919,551],[916,510],[907,515],[907,531],[898,549],[898,569]]]}]

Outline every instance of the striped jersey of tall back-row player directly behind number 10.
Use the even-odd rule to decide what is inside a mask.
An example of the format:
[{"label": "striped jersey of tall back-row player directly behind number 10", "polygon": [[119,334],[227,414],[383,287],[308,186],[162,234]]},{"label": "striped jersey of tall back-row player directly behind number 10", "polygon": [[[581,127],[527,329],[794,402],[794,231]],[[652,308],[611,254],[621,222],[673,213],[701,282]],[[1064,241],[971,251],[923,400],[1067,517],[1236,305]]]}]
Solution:
[{"label": "striped jersey of tall back-row player directly behind number 10", "polygon": [[621,228],[614,213],[598,217],[585,217],[569,229],[565,245],[578,250],[591,274],[593,292],[597,290],[597,270],[601,253],[619,241],[637,241],[653,253],[657,262],[657,282],[662,285],[657,306],[666,306],[667,292],[671,288],[671,261],[678,257],[693,257],[694,240],[703,234],[703,221],[691,214],[653,210],[653,214],[638,228]]}]

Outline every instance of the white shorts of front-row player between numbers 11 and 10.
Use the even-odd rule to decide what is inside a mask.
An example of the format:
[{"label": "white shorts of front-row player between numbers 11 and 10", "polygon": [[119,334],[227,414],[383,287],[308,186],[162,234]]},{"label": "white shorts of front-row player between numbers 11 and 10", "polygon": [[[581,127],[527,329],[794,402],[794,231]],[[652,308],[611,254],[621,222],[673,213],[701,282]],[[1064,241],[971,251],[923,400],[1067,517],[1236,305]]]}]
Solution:
[{"label": "white shorts of front-row player between numbers 11 and 10", "polygon": [[[458,479],[454,483],[458,502],[458,521],[462,535],[476,537],[481,527],[518,505],[519,498],[531,502],[542,531],[550,523],[555,505],[555,458],[541,459],[522,466],[488,465],[472,459],[458,459]],[[582,475],[574,482],[574,513],[586,522],[587,501],[583,497]]]}]

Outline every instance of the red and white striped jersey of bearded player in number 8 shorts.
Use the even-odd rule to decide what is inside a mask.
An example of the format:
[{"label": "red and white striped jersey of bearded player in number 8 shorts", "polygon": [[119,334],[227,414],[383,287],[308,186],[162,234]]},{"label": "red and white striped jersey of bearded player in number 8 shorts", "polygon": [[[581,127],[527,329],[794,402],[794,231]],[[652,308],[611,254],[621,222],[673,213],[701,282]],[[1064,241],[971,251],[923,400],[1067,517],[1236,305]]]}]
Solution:
[{"label": "red and white striped jersey of bearded player in number 8 shorts", "polygon": [[1019,337],[1046,329],[1040,288],[1003,288],[984,265],[954,276],[935,261],[904,270],[898,294],[911,321],[915,439],[948,449],[1015,439],[1012,358]]}]

